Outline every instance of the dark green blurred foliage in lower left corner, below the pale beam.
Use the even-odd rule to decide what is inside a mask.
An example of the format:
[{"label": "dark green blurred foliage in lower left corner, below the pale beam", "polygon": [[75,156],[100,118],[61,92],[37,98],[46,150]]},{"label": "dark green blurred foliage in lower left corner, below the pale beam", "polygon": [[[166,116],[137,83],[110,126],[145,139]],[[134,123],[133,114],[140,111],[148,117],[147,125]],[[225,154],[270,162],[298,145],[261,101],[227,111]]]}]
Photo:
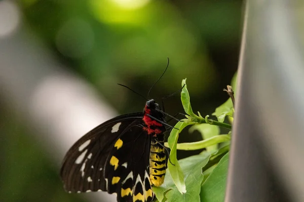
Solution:
[{"label": "dark green blurred foliage in lower left corner, below the pale beam", "polygon": [[[3,104],[3,103],[1,103]],[[66,194],[57,163],[36,142],[24,122],[0,107],[0,201],[84,201],[77,194]]]}]

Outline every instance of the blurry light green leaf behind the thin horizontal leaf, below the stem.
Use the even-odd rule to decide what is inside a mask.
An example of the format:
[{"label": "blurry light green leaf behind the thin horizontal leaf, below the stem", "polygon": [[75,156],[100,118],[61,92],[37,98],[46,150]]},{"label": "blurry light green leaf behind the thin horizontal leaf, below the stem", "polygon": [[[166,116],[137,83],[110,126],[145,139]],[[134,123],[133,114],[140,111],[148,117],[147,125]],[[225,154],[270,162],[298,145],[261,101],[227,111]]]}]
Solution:
[{"label": "blurry light green leaf behind the thin horizontal leaf, below the stem", "polygon": [[[198,130],[201,133],[203,140],[206,140],[213,136],[219,135],[219,133],[220,133],[220,129],[218,126],[210,125],[207,123],[196,124],[196,125],[192,126],[191,128],[189,128],[189,132],[191,132],[191,133],[193,133],[195,130]],[[218,149],[217,144],[206,147],[206,150],[211,151],[211,152],[214,150],[217,150],[217,149]]]}]

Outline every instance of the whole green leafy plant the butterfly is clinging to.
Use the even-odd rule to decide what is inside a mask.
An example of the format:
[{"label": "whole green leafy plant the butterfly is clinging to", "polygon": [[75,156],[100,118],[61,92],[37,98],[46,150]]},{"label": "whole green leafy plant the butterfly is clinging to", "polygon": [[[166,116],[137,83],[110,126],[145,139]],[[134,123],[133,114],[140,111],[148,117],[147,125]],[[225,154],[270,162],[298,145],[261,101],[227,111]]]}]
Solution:
[{"label": "whole green leafy plant the butterfly is clinging to", "polygon": [[[232,86],[235,89],[236,76]],[[232,125],[224,123],[227,117],[233,122],[234,107],[231,98],[216,108],[212,114],[218,121],[209,116],[195,114],[190,103],[186,79],[182,80],[181,102],[186,119],[178,122],[168,138],[165,146],[169,146],[170,162],[164,184],[154,187],[158,201],[204,201],[217,202],[224,200],[226,173],[228,167]],[[177,143],[179,133],[190,126],[189,132],[198,130],[202,141]],[[228,134],[220,134],[220,127],[229,129]],[[220,144],[221,143],[221,144]],[[176,150],[195,150],[205,148],[201,154],[177,161]]]}]

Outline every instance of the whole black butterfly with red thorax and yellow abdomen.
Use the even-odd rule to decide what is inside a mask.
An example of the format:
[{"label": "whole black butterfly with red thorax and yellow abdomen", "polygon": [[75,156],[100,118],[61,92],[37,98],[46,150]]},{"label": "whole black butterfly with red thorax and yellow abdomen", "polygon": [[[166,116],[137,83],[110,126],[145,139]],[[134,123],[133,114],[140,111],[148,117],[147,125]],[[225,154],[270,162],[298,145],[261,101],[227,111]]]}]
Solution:
[{"label": "whole black butterfly with red thorax and yellow abdomen", "polygon": [[143,112],[97,126],[67,151],[60,171],[68,192],[107,191],[117,201],[149,202],[164,182],[166,113],[154,99]]}]

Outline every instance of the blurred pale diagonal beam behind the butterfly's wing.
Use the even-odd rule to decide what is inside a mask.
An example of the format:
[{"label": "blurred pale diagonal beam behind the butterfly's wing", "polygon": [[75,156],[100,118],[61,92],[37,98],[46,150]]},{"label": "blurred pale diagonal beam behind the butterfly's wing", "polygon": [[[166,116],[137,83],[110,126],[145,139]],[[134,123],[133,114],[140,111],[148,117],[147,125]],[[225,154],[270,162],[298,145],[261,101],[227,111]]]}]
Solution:
[{"label": "blurred pale diagonal beam behind the butterfly's wing", "polygon": [[[19,16],[12,2],[0,2],[0,93],[8,108],[30,126],[29,138],[43,145],[59,172],[69,147],[116,113],[89,83],[67,72]],[[116,200],[105,192],[83,196]]]}]

